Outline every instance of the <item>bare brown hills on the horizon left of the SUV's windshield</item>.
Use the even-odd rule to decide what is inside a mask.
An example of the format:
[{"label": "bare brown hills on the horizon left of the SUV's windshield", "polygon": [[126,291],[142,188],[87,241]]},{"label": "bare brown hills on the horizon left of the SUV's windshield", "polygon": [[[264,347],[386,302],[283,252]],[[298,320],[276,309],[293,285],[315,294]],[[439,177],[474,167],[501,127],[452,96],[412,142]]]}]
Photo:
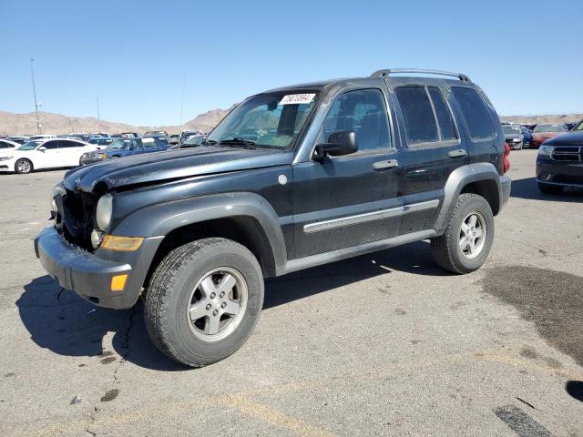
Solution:
[{"label": "bare brown hills on the horizon left of the SUV's windshield", "polygon": [[[70,132],[139,132],[147,130],[166,130],[169,134],[178,134],[181,130],[199,130],[208,132],[227,115],[230,109],[212,109],[199,114],[182,126],[132,126],[107,120],[97,121],[96,117],[67,117],[49,112],[39,112],[44,134],[66,134]],[[0,136],[36,134],[36,115],[15,114],[0,111]]]}]

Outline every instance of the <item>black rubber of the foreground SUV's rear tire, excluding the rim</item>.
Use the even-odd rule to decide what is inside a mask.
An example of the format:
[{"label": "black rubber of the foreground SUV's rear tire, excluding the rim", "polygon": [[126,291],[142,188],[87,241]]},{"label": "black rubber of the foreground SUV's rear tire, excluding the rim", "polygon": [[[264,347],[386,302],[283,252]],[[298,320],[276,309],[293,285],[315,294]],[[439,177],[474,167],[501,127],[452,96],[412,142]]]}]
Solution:
[{"label": "black rubber of the foreground SUV's rear tire, excluding the rim", "polygon": [[[468,258],[460,247],[460,236],[464,220],[476,213],[486,225],[486,238],[475,258]],[[485,198],[477,194],[461,194],[455,202],[454,210],[447,221],[445,232],[431,239],[431,250],[435,262],[444,269],[458,274],[479,269],[486,262],[494,242],[494,214]]]}]

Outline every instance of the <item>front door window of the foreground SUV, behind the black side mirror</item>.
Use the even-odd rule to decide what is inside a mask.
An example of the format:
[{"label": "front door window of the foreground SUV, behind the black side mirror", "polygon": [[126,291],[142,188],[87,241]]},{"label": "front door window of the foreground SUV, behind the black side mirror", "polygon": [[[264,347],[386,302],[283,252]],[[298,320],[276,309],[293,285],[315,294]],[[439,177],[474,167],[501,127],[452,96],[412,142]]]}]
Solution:
[{"label": "front door window of the foreground SUV, behind the black side mirror", "polygon": [[359,151],[391,145],[384,96],[379,89],[349,91],[332,104],[318,142],[326,142],[333,132],[353,131]]}]

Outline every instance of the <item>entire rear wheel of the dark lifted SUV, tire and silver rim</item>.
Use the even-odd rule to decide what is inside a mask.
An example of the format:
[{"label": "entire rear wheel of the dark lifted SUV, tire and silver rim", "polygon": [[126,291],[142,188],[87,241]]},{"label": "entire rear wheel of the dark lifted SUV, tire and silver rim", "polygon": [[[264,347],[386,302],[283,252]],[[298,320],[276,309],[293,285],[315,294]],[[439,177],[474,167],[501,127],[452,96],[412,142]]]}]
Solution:
[{"label": "entire rear wheel of the dark lifted SUV, tire and silver rim", "polygon": [[435,262],[454,273],[469,273],[486,262],[494,242],[494,214],[486,199],[465,193],[457,198],[445,232],[431,240]]}]

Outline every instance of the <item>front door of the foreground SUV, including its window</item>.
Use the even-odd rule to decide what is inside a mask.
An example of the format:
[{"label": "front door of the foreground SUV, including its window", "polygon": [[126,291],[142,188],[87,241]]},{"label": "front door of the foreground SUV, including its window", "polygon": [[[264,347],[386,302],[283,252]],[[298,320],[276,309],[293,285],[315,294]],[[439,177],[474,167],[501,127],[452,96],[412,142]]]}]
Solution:
[{"label": "front door of the foreground SUV, including its window", "polygon": [[356,153],[293,167],[293,258],[388,239],[398,233],[400,168],[384,92],[358,89],[336,97],[316,144],[339,131],[356,134]]}]

